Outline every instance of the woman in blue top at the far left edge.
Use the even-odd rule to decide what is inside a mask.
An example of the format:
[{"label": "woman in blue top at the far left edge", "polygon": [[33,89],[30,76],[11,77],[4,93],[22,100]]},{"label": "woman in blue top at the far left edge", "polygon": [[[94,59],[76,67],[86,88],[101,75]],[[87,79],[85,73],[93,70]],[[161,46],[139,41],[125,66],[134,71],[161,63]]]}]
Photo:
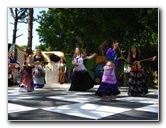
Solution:
[{"label": "woman in blue top at the far left edge", "polygon": [[9,70],[11,71],[11,75],[12,75],[12,82],[13,84],[18,84],[17,81],[17,74],[20,70],[20,64],[17,61],[15,52],[11,53],[11,56],[8,58],[8,66],[9,66]]}]

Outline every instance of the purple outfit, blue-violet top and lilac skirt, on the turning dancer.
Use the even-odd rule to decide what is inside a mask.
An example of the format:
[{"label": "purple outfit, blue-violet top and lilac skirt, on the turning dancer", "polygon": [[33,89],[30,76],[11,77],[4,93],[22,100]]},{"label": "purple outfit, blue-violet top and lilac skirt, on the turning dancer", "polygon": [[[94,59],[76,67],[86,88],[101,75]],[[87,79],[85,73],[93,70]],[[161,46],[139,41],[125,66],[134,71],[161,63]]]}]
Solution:
[{"label": "purple outfit, blue-violet top and lilac skirt, on the turning dancer", "polygon": [[[117,58],[116,58],[116,51],[109,48],[106,53],[106,60],[107,62],[113,62],[115,65],[118,64]],[[102,80],[100,83],[100,86],[98,90],[96,91],[96,95],[102,96],[102,95],[118,95],[120,94],[120,91],[116,85],[116,76],[115,76],[115,68],[111,66],[104,66],[104,72],[102,76]]]}]

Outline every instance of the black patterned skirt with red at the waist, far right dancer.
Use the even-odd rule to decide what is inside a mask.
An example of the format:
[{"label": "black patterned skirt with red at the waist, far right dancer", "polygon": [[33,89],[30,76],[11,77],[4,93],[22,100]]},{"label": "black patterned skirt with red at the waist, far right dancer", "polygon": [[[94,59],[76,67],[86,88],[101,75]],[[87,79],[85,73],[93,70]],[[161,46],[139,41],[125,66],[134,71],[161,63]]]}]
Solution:
[{"label": "black patterned skirt with red at the waist, far right dancer", "polygon": [[129,96],[145,96],[148,93],[145,75],[142,69],[131,68],[129,74]]}]

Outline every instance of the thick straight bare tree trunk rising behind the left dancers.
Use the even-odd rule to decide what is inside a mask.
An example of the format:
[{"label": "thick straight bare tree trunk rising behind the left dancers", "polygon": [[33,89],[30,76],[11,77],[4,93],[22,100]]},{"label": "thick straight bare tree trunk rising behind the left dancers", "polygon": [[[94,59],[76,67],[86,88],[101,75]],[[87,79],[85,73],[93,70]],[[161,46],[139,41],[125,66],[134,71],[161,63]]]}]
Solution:
[{"label": "thick straight bare tree trunk rising behind the left dancers", "polygon": [[32,48],[32,30],[33,30],[33,8],[29,8],[28,14],[28,44],[27,46]]}]

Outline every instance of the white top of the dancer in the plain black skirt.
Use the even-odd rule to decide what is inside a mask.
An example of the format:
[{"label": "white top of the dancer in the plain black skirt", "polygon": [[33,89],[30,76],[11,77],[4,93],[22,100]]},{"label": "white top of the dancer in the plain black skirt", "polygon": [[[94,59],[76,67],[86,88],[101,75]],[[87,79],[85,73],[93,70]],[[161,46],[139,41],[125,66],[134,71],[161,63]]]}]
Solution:
[{"label": "white top of the dancer in the plain black skirt", "polygon": [[80,57],[72,57],[72,61],[78,63],[75,65],[75,71],[81,71],[81,70],[86,70],[86,67],[84,65],[84,59],[86,58],[86,56],[80,56]]}]

